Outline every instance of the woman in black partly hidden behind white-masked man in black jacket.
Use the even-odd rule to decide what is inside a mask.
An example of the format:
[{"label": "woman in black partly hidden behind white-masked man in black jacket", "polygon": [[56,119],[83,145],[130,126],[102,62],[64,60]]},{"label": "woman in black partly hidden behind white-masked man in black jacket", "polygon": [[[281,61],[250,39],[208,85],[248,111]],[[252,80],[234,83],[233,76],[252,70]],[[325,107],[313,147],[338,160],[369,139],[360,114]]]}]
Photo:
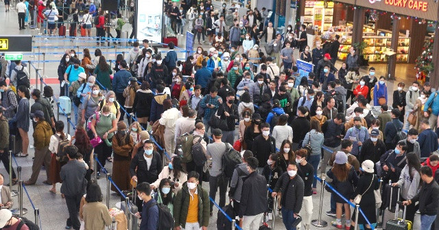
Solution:
[{"label": "woman in black partly hidden behind white-masked man in black jacket", "polygon": [[[270,157],[267,160],[267,165],[262,170],[262,176],[265,177],[265,180],[267,181],[267,185],[270,186],[270,189],[274,189],[276,186],[276,183],[283,174],[283,170],[281,168],[281,162],[279,161],[279,156],[277,153],[270,154]],[[278,197],[280,198],[280,197]],[[273,210],[273,198],[271,194],[268,196],[268,220],[272,220],[273,214],[276,212],[276,210]]]}]

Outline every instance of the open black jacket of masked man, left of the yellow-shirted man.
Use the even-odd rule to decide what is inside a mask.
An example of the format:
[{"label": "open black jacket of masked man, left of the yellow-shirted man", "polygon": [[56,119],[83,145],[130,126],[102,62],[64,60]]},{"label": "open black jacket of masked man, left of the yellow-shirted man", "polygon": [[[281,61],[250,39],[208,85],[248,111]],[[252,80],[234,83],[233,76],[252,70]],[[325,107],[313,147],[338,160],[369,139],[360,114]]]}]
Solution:
[{"label": "open black jacket of masked man, left of the yellow-shirted man", "polygon": [[160,154],[158,152],[153,152],[152,154],[150,170],[147,170],[147,163],[143,157],[143,148],[131,160],[130,174],[131,176],[137,176],[137,183],[154,183],[158,179],[158,174],[162,172],[163,165]]}]

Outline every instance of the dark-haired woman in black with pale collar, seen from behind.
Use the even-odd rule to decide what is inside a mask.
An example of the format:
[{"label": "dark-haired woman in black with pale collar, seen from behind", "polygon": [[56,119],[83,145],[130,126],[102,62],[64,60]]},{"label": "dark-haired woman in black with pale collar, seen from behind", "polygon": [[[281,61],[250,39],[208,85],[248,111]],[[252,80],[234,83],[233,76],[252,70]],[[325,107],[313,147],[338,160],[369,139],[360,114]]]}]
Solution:
[{"label": "dark-haired woman in black with pale collar, seen from behind", "polygon": [[152,94],[150,83],[143,81],[140,89],[136,91],[134,102],[132,104],[132,113],[137,117],[137,122],[146,130],[150,119]]}]

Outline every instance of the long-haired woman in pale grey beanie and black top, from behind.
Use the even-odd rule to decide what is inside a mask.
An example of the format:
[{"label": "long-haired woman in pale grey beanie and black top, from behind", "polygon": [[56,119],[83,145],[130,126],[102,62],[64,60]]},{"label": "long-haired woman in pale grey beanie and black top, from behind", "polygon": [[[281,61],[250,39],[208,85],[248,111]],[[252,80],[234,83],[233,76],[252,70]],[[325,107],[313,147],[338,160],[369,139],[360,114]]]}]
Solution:
[{"label": "long-haired woman in pale grey beanie and black top, from behind", "polygon": [[[357,187],[358,175],[352,165],[348,163],[348,156],[342,151],[335,154],[335,161],[333,168],[327,172],[327,176],[332,179],[333,187],[344,197],[352,197],[354,194],[354,187]],[[351,207],[340,196],[335,196],[335,212],[337,218],[331,224],[338,229],[342,229],[342,212],[346,215],[346,229],[351,228]],[[374,204],[375,205],[375,204]]]}]

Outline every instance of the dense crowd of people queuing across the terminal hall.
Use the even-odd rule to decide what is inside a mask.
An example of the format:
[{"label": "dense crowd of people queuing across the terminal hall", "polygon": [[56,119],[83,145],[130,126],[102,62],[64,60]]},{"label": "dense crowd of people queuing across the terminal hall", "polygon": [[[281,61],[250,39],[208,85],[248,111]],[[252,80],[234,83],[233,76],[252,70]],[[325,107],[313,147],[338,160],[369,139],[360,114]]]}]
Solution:
[{"label": "dense crowd of people queuing across the terminal hall", "polygon": [[[170,228],[207,229],[214,206],[209,197],[215,200],[218,189],[219,207],[230,198],[232,218],[238,216],[243,229],[259,229],[274,216],[281,216],[288,230],[311,229],[317,176],[358,203],[371,223],[377,222],[377,208],[392,206],[390,187],[375,192],[378,179],[400,187],[406,219],[413,222],[418,210],[421,229],[431,228],[439,205],[439,97],[429,82],[414,81],[408,88],[398,83],[390,104],[389,82],[377,78],[374,67],[360,76],[354,47],[335,68],[338,36],[310,50],[305,25],[288,25],[283,39],[266,20],[265,8],[239,16],[235,5],[214,10],[211,0],[182,0],[180,7],[169,1],[165,12],[176,34],[189,23],[198,43],[208,36],[211,47],[199,46],[180,61],[174,43],[163,55],[147,39],[135,41],[125,57],[117,56],[114,68],[100,49],[93,58],[89,49],[82,57],[67,50],[58,80],[60,97],[68,97],[73,108],[74,135],[54,116],[54,86],[30,91],[27,68],[0,56],[0,159],[12,174],[10,185],[17,182],[8,167],[10,143],[21,143],[14,154],[27,157],[32,124],[34,161],[25,185],[34,185],[45,165],[49,192],[56,194],[56,183],[62,183],[67,229],[80,229],[80,218],[86,229],[110,225],[110,216],[97,215],[106,207],[91,179],[106,172],[106,162],[112,162],[112,180],[120,190],[137,189],[140,229],[168,224],[159,221],[162,207],[173,217]],[[294,49],[300,60],[315,65],[307,76],[298,73]],[[228,172],[224,156],[234,151],[240,152],[239,163]],[[8,187],[2,187],[0,206],[10,208],[3,189]],[[344,198],[331,193],[331,225],[370,229],[361,215],[354,222]],[[19,225],[5,216],[0,228]],[[222,220],[217,225],[225,225]]]}]

